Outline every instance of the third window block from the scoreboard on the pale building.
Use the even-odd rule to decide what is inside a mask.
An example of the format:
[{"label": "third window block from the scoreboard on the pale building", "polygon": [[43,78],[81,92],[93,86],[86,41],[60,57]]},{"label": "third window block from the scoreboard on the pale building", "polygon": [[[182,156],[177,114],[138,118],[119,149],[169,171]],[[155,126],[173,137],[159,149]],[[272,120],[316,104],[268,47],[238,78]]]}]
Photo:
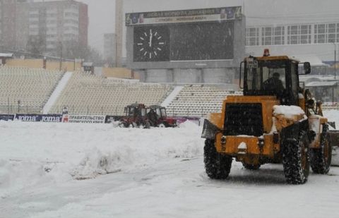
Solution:
[{"label": "third window block from the scoreboard on the pale building", "polygon": [[288,26],[287,44],[311,44],[311,25]]}]

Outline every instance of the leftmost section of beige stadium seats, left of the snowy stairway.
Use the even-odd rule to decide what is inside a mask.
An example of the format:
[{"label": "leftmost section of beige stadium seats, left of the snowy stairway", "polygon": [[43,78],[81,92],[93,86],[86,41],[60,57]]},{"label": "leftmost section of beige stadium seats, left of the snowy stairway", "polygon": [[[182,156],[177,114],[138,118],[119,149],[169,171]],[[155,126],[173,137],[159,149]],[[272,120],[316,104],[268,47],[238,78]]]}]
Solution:
[{"label": "leftmost section of beige stadium seats, left of the snowy stairway", "polygon": [[64,73],[23,67],[0,67],[0,114],[41,114]]}]

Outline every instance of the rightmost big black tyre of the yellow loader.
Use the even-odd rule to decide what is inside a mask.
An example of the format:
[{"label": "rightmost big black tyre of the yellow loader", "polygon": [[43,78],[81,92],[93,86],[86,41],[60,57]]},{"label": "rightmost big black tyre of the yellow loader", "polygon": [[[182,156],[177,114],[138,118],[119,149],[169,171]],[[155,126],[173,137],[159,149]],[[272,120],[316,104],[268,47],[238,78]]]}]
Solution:
[{"label": "rightmost big black tyre of the yellow loader", "polygon": [[320,148],[311,149],[311,169],[316,174],[327,174],[330,170],[332,159],[332,146],[328,125],[323,125],[323,133],[320,136]]}]

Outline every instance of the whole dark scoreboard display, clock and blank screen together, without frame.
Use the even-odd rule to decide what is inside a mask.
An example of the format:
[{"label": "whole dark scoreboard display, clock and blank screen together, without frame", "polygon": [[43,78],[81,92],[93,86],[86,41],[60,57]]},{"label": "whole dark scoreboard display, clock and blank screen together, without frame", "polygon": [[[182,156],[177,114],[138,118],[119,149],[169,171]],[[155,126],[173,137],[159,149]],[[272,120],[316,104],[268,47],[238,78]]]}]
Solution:
[{"label": "whole dark scoreboard display, clock and blank screen together, without frame", "polygon": [[133,28],[133,61],[212,61],[234,58],[234,20]]}]

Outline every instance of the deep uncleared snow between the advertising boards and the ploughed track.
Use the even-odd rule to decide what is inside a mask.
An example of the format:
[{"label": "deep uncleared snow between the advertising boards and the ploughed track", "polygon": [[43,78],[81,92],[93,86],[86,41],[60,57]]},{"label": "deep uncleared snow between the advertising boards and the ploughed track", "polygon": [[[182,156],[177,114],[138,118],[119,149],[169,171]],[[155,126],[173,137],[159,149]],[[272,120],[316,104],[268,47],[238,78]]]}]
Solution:
[{"label": "deep uncleared snow between the advertising boards and the ploughed track", "polygon": [[108,124],[0,121],[0,197],[39,183],[145,168],[203,154],[201,127],[114,128]]}]

